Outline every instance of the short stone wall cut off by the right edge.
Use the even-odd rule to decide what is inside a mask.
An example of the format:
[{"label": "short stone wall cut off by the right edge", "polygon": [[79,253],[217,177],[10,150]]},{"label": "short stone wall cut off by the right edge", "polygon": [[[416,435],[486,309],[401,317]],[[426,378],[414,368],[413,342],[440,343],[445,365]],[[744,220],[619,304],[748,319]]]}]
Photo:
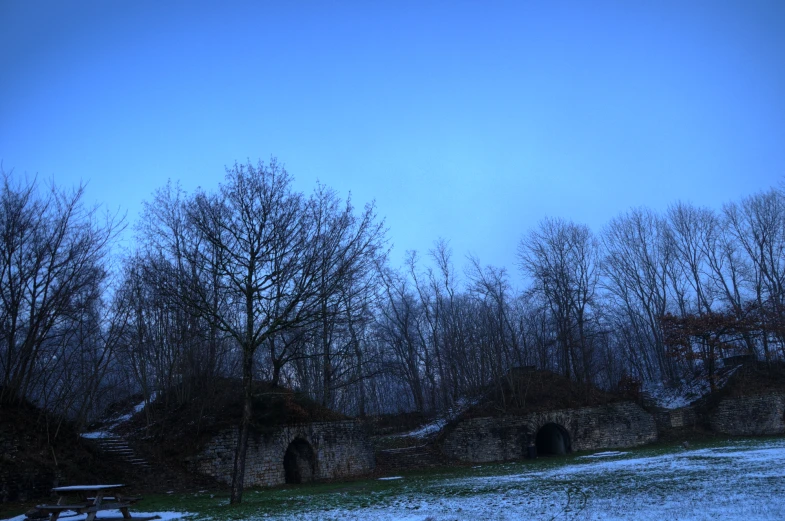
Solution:
[{"label": "short stone wall cut off by the right edge", "polygon": [[734,436],[785,434],[785,393],[724,398],[709,413],[709,425]]}]

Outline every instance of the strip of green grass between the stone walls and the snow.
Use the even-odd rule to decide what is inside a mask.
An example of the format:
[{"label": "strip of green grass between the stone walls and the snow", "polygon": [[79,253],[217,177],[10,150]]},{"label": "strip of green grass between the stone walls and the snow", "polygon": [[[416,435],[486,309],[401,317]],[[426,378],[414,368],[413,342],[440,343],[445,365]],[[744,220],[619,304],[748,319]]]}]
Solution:
[{"label": "strip of green grass between the stone walls and the snow", "polygon": [[[754,446],[761,440],[741,441]],[[727,440],[709,440],[693,443],[691,450],[713,448],[727,444]],[[683,450],[677,443],[656,444],[633,449],[621,449],[628,452],[616,459],[632,459],[670,454]],[[565,456],[539,458],[533,461],[507,463],[489,463],[472,467],[442,468],[420,472],[403,473],[404,479],[380,481],[364,479],[339,483],[316,483],[298,486],[286,486],[273,489],[247,489],[241,505],[229,505],[228,493],[197,493],[147,496],[140,508],[147,511],[174,510],[195,512],[191,519],[248,519],[254,517],[281,516],[303,513],[306,511],[330,510],[334,508],[368,508],[373,506],[391,505],[398,498],[414,494],[450,498],[470,497],[480,494],[504,494],[512,488],[519,488],[517,483],[499,483],[498,480],[487,480],[478,484],[471,478],[505,477],[523,473],[540,473],[558,469],[568,464],[591,465],[594,461],[581,458],[596,451],[574,453]],[[466,479],[466,484],[456,483]],[[448,483],[449,482],[449,483]],[[563,493],[574,490],[576,494],[601,495],[603,491],[627,493],[630,491],[647,490],[654,495],[664,495],[674,487],[684,487],[683,482],[658,481],[656,476],[641,475],[636,472],[620,472],[613,475],[598,474],[587,478],[569,476],[564,479],[540,481],[537,487],[541,493],[548,491]]]}]

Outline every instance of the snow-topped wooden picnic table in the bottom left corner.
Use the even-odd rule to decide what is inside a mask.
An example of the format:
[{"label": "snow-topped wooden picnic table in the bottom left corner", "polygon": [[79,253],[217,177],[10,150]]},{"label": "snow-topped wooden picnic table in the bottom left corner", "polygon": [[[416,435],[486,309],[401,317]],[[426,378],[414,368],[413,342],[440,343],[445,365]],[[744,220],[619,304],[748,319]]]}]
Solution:
[{"label": "snow-topped wooden picnic table in the bottom left corner", "polygon": [[[58,495],[57,504],[38,505],[36,508],[51,514],[49,521],[57,521],[60,514],[66,510],[73,510],[77,514],[87,514],[85,521],[95,521],[96,514],[102,510],[119,510],[123,517],[99,517],[99,521],[119,521],[132,519],[134,521],[149,521],[157,519],[152,517],[131,517],[128,507],[139,501],[140,497],[124,496],[120,493],[125,485],[71,485],[52,489]],[[114,494],[109,496],[107,494]]]}]

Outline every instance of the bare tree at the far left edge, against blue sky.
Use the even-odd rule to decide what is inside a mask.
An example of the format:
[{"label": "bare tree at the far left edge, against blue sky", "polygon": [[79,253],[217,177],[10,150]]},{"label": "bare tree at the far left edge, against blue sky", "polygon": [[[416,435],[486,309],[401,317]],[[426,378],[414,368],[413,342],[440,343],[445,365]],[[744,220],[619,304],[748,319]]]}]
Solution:
[{"label": "bare tree at the far left edge, against blue sky", "polygon": [[35,179],[15,181],[2,173],[0,401],[46,389],[47,369],[65,363],[70,353],[64,349],[87,338],[72,332],[101,305],[106,258],[120,221],[101,220],[97,208],[82,204],[83,194],[83,186],[39,190]]}]

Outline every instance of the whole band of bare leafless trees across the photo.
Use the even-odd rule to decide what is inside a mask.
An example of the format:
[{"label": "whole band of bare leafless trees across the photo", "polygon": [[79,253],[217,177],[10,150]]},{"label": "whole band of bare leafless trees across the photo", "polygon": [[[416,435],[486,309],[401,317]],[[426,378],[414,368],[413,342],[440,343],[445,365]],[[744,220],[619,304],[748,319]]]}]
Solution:
[{"label": "whole band of bare leafless trees across the photo", "polygon": [[234,165],[214,192],[160,188],[118,260],[121,227],[82,188],[3,174],[0,401],[85,423],[133,393],[182,403],[238,377],[355,415],[440,413],[513,367],[613,389],[785,357],[776,189],[636,208],[597,233],[544,219],[510,238],[523,288],[456,268],[446,241],[391,267],[373,205],[299,193],[275,161]]}]

